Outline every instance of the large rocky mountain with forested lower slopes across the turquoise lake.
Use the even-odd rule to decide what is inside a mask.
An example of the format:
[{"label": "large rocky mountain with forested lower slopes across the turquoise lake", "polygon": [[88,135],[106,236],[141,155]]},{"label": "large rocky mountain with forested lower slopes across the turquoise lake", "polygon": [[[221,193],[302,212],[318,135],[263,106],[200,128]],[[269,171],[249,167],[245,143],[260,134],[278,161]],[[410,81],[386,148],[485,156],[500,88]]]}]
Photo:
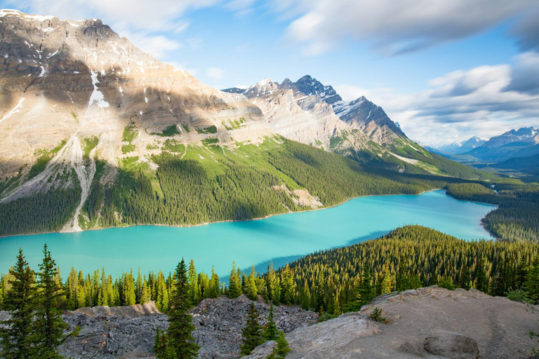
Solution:
[{"label": "large rocky mountain with forested lower slopes across the turquoise lake", "polygon": [[220,91],[100,20],[0,19],[0,235],[248,219],[434,186],[402,173],[483,176],[311,76]]}]

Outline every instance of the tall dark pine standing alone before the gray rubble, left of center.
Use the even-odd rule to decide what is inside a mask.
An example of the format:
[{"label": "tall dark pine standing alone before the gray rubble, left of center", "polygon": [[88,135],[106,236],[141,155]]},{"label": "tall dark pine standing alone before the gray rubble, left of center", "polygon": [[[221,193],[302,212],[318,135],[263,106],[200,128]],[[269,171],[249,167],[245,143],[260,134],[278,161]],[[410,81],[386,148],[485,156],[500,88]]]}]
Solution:
[{"label": "tall dark pine standing alone before the gray rubble, left of center", "polygon": [[199,346],[195,344],[192,334],[194,325],[189,314],[189,287],[183,259],[176,267],[174,289],[168,311],[168,322],[171,323],[167,332],[168,344],[173,348],[175,358],[194,359],[199,353]]}]

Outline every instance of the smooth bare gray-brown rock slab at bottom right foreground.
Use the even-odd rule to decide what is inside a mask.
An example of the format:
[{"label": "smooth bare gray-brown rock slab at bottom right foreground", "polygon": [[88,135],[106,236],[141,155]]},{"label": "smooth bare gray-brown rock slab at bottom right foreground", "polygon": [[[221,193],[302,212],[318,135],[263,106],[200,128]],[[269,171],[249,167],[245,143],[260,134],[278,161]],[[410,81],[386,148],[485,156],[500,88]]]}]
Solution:
[{"label": "smooth bare gray-brown rock slab at bottom right foreground", "polygon": [[[387,323],[370,318],[382,310]],[[538,306],[491,297],[477,290],[426,287],[378,297],[358,313],[346,313],[286,334],[286,358],[528,358],[539,344]],[[274,342],[244,359],[266,358]]]}]

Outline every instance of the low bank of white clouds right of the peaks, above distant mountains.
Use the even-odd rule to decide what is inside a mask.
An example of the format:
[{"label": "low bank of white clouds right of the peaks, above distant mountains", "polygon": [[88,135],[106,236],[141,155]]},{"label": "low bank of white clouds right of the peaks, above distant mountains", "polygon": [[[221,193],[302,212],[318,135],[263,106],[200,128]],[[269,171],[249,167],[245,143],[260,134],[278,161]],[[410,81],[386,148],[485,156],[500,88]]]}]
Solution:
[{"label": "low bank of white clouds right of the peaks, above distant mountains", "polygon": [[[432,79],[429,89],[418,93],[349,85],[335,89],[345,100],[364,95],[382,106],[413,140],[432,144],[466,140],[473,135],[491,137],[512,128],[539,127],[539,92],[531,90],[539,88],[539,82],[525,82],[521,89],[510,86],[519,76],[525,77],[520,72],[534,66],[536,57],[537,53],[522,54],[515,58],[514,66],[452,72]],[[533,74],[537,79],[537,72],[530,72],[530,76]]]}]

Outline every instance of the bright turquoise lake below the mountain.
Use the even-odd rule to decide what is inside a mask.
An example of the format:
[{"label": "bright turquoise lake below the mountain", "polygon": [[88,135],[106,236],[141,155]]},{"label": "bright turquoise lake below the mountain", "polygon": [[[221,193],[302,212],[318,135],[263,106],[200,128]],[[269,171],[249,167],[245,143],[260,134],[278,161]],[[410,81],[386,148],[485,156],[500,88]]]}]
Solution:
[{"label": "bright turquoise lake below the mountain", "polygon": [[429,226],[468,240],[491,238],[481,218],[495,206],[458,201],[444,190],[417,196],[368,196],[324,210],[290,213],[244,222],[193,227],[132,226],[79,233],[49,233],[0,238],[0,273],[15,264],[19,248],[32,269],[48,244],[62,277],[72,266],[91,273],[105,266],[113,276],[140,267],[142,273],[173,271],[182,257],[194,259],[198,271],[230,273],[232,261],[242,269],[255,264],[265,271],[317,250],[349,245],[405,224]]}]

